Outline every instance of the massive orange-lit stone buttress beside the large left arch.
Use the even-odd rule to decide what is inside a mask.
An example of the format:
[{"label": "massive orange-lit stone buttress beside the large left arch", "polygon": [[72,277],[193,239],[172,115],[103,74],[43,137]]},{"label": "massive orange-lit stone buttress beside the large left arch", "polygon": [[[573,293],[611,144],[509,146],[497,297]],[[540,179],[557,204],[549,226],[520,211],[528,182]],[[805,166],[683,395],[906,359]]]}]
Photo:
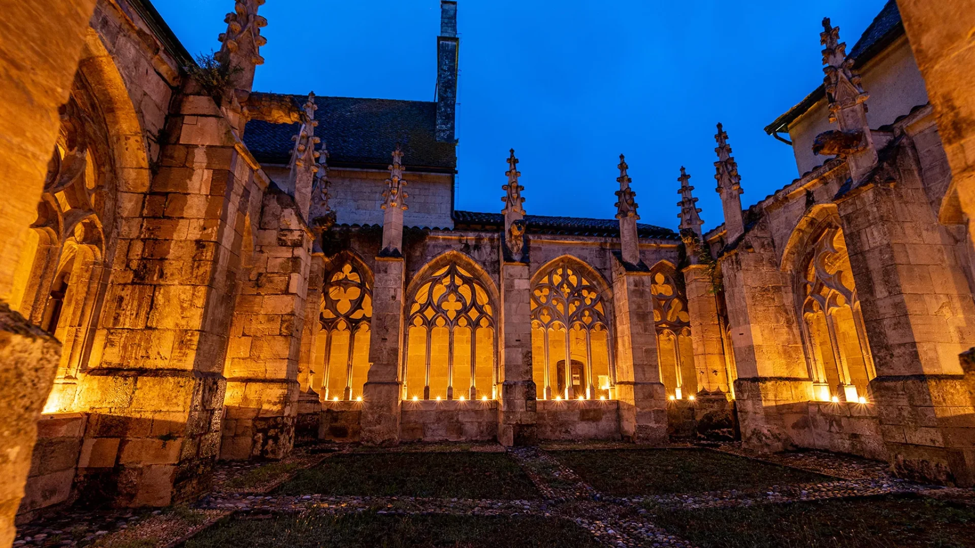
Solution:
[{"label": "massive orange-lit stone buttress beside the large left arch", "polygon": [[193,82],[184,92],[157,174],[145,187],[125,181],[132,205],[75,403],[92,413],[82,495],[112,493],[123,506],[165,506],[209,487],[237,284],[229,265],[249,196],[262,191],[214,99]]}]

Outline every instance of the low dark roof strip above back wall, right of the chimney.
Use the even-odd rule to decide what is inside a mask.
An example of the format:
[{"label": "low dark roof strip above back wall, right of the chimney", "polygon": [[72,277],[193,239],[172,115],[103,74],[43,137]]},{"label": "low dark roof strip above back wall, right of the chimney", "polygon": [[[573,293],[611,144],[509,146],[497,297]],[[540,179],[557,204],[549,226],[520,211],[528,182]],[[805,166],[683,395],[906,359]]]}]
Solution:
[{"label": "low dark roof strip above back wall, right of the chimney", "polygon": [[[585,218],[574,216],[525,215],[528,234],[565,234],[571,236],[619,236],[619,221],[616,219]],[[453,212],[455,229],[471,225],[501,226],[504,215],[477,212]],[[637,233],[641,238],[680,240],[677,232],[652,224],[637,223]]]}]

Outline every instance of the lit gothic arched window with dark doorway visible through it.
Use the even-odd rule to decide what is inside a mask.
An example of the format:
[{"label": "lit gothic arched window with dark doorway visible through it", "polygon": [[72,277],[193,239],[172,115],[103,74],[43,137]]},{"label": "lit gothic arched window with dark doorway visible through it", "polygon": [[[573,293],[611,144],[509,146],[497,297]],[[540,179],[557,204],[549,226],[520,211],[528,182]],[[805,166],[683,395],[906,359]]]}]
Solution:
[{"label": "lit gothic arched window with dark doorway visible through it", "polygon": [[611,397],[615,378],[604,290],[583,271],[565,258],[541,272],[531,288],[532,372],[539,399]]}]

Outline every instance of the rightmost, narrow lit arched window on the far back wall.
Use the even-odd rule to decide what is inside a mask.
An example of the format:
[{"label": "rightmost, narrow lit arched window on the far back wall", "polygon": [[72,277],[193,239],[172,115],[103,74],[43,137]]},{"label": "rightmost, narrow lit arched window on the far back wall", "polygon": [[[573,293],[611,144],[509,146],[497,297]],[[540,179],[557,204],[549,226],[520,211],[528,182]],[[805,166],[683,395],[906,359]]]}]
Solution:
[{"label": "rightmost, narrow lit arched window on the far back wall", "polygon": [[672,268],[654,267],[652,276],[650,293],[653,294],[660,376],[668,394],[680,400],[697,392],[687,298],[675,281]]}]

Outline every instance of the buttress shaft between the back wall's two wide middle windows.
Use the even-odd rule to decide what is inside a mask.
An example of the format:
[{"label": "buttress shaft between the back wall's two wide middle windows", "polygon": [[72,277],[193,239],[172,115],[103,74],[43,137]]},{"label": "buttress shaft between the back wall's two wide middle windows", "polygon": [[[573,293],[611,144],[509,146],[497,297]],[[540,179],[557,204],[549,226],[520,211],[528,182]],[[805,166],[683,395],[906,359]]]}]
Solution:
[{"label": "buttress shaft between the back wall's two wide middle windows", "polygon": [[528,265],[501,264],[501,402],[498,442],[507,447],[535,442],[535,382],[531,379],[531,303]]}]

